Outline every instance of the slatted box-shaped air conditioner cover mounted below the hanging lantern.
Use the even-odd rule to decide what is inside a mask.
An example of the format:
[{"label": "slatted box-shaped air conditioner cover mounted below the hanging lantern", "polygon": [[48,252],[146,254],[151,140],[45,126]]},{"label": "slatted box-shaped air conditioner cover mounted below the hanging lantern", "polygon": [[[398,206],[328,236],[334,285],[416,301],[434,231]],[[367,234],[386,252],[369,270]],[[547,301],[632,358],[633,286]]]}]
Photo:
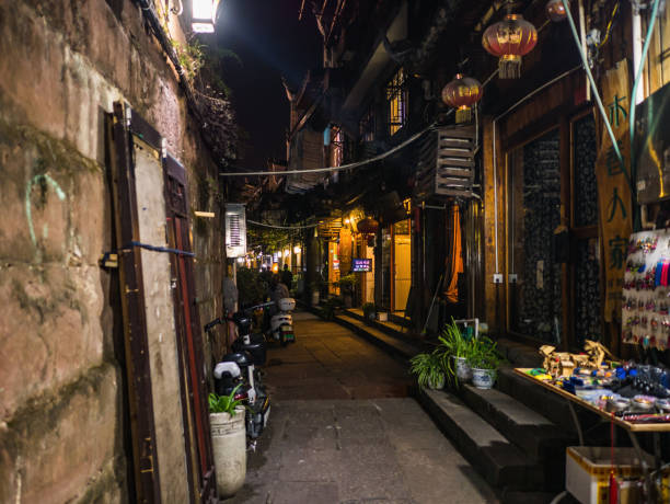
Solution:
[{"label": "slatted box-shaped air conditioner cover mounted below the hanging lantern", "polygon": [[420,147],[415,197],[473,196],[474,126],[441,126]]}]

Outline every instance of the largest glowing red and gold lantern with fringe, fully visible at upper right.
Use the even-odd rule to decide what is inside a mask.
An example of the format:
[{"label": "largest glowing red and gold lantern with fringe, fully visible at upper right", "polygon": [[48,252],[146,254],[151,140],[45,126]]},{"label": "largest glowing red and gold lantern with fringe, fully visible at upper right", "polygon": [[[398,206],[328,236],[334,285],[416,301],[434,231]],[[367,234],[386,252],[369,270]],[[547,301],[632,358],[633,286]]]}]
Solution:
[{"label": "largest glowing red and gold lantern with fringe, fully visible at upper right", "polygon": [[498,59],[500,79],[521,77],[521,57],[538,43],[535,26],[520,14],[507,14],[503,21],[492,24],[484,32],[482,45]]}]

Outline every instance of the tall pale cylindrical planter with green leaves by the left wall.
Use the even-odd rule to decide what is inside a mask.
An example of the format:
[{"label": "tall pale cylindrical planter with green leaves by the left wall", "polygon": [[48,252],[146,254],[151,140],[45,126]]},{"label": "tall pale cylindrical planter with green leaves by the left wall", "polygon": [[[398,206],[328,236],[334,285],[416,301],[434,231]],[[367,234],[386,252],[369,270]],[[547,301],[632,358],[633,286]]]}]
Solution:
[{"label": "tall pale cylindrical planter with green leaves by the left wall", "polygon": [[234,495],[246,478],[246,427],[244,406],[235,400],[235,387],[229,396],[209,394],[209,426],[217,489],[220,497]]}]

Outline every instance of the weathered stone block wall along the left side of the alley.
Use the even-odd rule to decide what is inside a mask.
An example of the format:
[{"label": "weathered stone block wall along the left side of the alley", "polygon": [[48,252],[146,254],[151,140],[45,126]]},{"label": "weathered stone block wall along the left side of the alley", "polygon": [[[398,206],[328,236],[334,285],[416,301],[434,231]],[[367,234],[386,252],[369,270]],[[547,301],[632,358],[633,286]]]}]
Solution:
[{"label": "weathered stone block wall along the left side of the alley", "polygon": [[[168,138],[194,209],[217,205],[213,191],[198,192],[216,169],[173,70],[140,10],[109,3],[0,2],[0,502],[128,499],[118,314],[97,265],[111,249],[113,102]],[[221,306],[220,229],[210,219],[193,230],[203,319]],[[170,470],[165,484],[183,481]]]}]

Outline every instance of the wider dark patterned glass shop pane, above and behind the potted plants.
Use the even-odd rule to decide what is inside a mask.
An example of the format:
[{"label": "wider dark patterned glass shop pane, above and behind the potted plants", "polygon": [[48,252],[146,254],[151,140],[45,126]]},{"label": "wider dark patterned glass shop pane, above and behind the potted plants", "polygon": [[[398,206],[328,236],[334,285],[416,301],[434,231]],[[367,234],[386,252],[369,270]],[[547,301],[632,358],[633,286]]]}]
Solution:
[{"label": "wider dark patterned glass shop pane, above and behind the potted plants", "polygon": [[507,162],[509,273],[517,278],[509,284],[509,329],[557,343],[562,267],[552,244],[561,224],[559,130],[512,150]]}]

